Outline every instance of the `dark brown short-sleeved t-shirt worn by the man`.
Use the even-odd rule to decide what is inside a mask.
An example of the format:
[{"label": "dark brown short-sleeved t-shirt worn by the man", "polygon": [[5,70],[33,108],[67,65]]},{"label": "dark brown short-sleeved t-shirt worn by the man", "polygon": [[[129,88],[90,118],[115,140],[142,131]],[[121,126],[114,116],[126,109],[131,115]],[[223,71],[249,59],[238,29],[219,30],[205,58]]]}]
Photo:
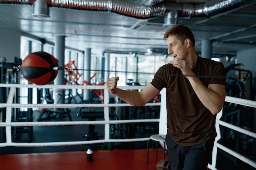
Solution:
[{"label": "dark brown short-sleeved t-shirt worn by the man", "polygon": [[[225,67],[221,62],[198,57],[195,75],[207,87],[225,85]],[[200,102],[189,80],[179,68],[166,64],[159,68],[151,84],[166,88],[167,132],[179,145],[193,146],[216,135],[216,115]]]}]

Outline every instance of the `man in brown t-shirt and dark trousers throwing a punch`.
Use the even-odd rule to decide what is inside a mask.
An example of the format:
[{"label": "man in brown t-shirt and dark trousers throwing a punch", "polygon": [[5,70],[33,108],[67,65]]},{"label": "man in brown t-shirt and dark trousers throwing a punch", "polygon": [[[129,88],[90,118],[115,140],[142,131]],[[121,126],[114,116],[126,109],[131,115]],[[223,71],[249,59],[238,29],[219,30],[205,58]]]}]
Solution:
[{"label": "man in brown t-shirt and dark trousers throwing a punch", "polygon": [[108,91],[133,106],[143,106],[166,88],[166,145],[171,170],[207,170],[216,136],[216,114],[225,102],[225,68],[198,57],[192,31],[177,25],[164,34],[173,61],[159,68],[142,91],[117,88],[119,77],[108,78]]}]

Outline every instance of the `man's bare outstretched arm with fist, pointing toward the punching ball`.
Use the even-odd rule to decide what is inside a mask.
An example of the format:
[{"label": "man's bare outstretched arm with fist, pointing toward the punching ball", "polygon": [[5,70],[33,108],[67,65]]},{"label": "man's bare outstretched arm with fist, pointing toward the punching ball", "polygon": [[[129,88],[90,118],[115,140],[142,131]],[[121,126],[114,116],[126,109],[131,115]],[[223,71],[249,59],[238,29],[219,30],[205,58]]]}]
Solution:
[{"label": "man's bare outstretched arm with fist, pointing toward the punching ball", "polygon": [[127,91],[117,88],[117,81],[119,77],[112,77],[106,80],[106,86],[108,91],[122,99],[124,102],[131,104],[132,106],[144,106],[156,95],[159,94],[159,90],[152,84],[148,84],[142,91]]}]

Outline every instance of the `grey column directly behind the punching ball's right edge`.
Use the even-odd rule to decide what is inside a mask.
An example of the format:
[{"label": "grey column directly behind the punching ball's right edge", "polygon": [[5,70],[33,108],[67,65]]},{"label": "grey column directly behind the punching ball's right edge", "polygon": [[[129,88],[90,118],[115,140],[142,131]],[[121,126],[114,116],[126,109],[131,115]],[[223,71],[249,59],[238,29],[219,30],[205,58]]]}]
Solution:
[{"label": "grey column directly behind the punching ball's right edge", "polygon": [[[65,36],[55,37],[54,57],[58,60],[58,66],[64,67],[65,57]],[[64,71],[59,70],[57,77],[54,79],[55,85],[64,84]],[[65,102],[65,89],[54,89],[54,104],[63,104]]]}]

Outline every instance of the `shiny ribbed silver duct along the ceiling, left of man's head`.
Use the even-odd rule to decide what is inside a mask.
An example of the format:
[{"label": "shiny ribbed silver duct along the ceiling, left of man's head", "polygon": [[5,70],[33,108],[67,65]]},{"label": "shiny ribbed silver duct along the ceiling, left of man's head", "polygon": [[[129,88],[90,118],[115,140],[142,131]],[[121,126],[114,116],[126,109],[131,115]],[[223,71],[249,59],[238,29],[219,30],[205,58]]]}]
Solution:
[{"label": "shiny ribbed silver duct along the ceiling, left of man's head", "polygon": [[117,13],[138,19],[157,18],[166,13],[164,3],[145,7],[124,0],[47,0],[47,4],[50,7]]}]

